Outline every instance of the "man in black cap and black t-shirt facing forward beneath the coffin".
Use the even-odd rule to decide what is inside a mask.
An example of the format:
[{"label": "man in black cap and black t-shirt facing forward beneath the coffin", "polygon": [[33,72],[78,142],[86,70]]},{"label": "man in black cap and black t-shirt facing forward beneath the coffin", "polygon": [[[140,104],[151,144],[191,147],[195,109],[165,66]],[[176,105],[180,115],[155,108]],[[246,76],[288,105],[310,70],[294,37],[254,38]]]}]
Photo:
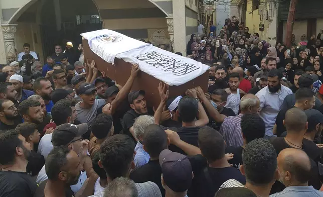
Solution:
[{"label": "man in black cap and black t-shirt facing forward beneath the coffin", "polygon": [[128,94],[128,102],[131,110],[126,112],[123,116],[123,134],[131,137],[134,142],[136,142],[133,131],[134,120],[141,115],[153,115],[153,111],[150,108],[147,108],[144,95],[145,92],[143,90],[131,91]]}]

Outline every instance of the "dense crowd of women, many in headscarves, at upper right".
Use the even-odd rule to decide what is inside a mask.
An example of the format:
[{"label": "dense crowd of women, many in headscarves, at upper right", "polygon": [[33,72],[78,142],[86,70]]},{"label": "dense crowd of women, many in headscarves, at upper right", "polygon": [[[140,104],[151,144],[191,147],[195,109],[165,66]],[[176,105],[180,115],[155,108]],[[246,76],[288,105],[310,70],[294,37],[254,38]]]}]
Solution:
[{"label": "dense crowd of women, many in headscarves, at upper right", "polygon": [[[286,80],[293,84],[294,73],[303,70],[316,74],[323,81],[322,52],[323,41],[321,34],[312,35],[306,40],[303,34],[296,43],[295,35],[292,35],[291,47],[287,48],[284,43],[277,42],[275,46],[265,40],[260,40],[258,33],[249,33],[249,28],[244,27],[239,21],[226,20],[219,34],[192,34],[187,45],[188,57],[212,65],[220,60],[228,67],[255,66],[261,69],[261,60],[265,57],[273,57],[277,60],[277,68],[284,71]],[[257,71],[257,70],[255,70]]]}]

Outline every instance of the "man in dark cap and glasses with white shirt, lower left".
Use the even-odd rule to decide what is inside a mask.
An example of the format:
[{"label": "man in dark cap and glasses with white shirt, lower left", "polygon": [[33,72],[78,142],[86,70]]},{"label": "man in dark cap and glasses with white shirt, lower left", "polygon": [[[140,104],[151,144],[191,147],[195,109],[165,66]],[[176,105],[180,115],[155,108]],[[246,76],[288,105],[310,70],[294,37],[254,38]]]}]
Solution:
[{"label": "man in dark cap and glasses with white shirt, lower left", "polygon": [[[82,161],[88,160],[90,162],[85,161],[83,164],[83,168],[87,170],[87,163],[90,163],[92,165],[91,158],[86,154],[87,153],[87,145],[88,143],[86,141],[83,141],[83,134],[85,134],[88,130],[88,125],[86,123],[82,123],[80,125],[74,125],[74,124],[62,124],[56,127],[52,134],[52,144],[54,147],[57,146],[66,146],[69,150],[73,150],[79,157],[79,159]],[[83,163],[83,162],[81,162]],[[80,172],[80,177],[78,178],[78,182],[74,185],[71,185],[71,189],[74,193],[76,193],[82,185],[84,184],[84,181],[86,180],[86,172]],[[48,179],[48,176],[46,174],[46,163],[39,172],[36,182],[40,184],[41,186],[45,186],[45,184],[41,184],[43,181],[46,181]]]}]

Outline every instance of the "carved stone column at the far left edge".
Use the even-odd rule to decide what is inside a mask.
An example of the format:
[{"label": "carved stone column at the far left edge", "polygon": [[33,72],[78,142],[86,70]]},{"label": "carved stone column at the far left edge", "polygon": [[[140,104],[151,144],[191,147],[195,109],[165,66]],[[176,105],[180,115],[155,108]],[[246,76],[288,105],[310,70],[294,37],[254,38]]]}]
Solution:
[{"label": "carved stone column at the far left edge", "polygon": [[15,54],[15,33],[17,24],[2,24],[2,31],[5,41],[6,57],[9,53]]}]

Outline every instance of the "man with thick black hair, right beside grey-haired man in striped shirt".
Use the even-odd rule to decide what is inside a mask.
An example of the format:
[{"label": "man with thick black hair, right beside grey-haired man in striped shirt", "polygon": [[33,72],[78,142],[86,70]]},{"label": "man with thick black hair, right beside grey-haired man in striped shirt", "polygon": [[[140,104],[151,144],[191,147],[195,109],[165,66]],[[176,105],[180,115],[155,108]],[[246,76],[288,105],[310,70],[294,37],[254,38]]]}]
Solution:
[{"label": "man with thick black hair, right beside grey-haired man in striped shirt", "polygon": [[254,139],[263,138],[265,135],[265,122],[257,114],[245,114],[241,117],[241,132],[243,145],[240,147],[227,146],[226,153],[232,153],[233,159],[229,163],[239,169],[242,165],[242,151],[246,145]]}]

